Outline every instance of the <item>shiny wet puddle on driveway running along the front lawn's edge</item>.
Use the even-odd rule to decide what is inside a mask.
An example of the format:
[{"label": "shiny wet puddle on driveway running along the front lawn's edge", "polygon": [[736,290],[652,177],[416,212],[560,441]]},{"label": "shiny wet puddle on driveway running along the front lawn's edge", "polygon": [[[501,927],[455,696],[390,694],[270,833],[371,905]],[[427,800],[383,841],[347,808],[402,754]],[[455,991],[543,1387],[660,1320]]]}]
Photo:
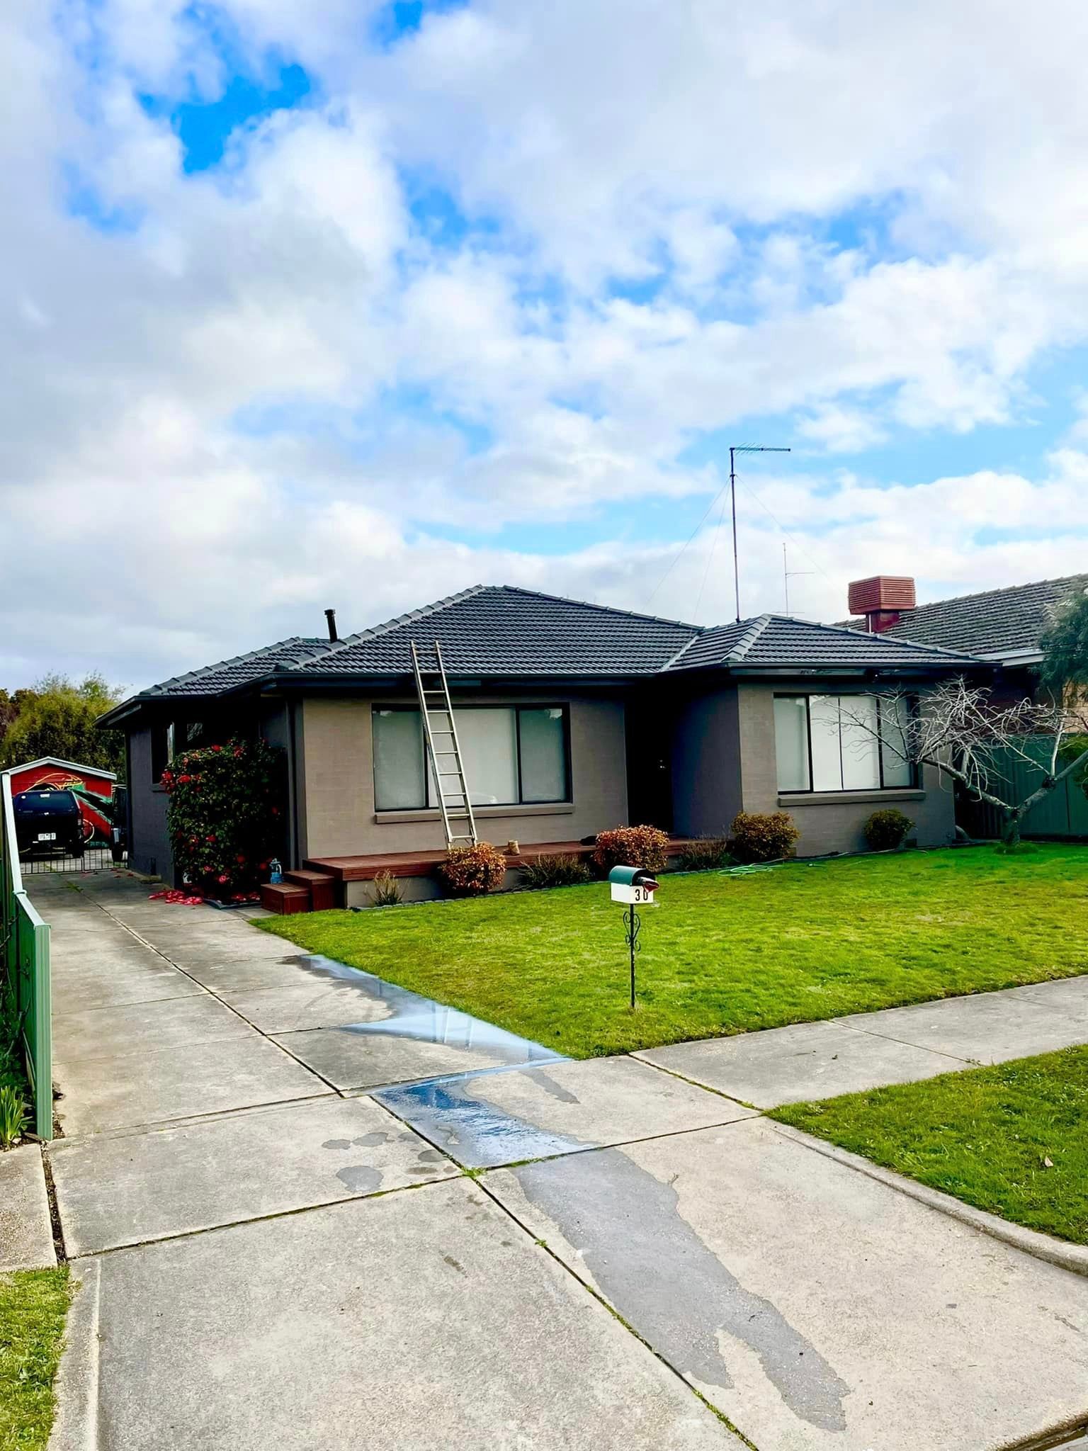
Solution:
[{"label": "shiny wet puddle on driveway running along the front lawn's edge", "polygon": [[294,962],[315,977],[335,978],[338,982],[355,988],[371,1003],[382,1003],[389,1010],[387,1017],[374,1023],[348,1023],[323,1032],[358,1033],[361,1037],[408,1037],[416,1043],[441,1043],[444,1048],[486,1053],[511,1066],[564,1061],[563,1053],[556,1053],[541,1043],[519,1037],[516,1033],[508,1033],[506,1029],[496,1027],[495,1023],[485,1023],[480,1017],[461,1013],[444,1003],[435,1003],[434,998],[422,997],[419,992],[396,987],[393,982],[386,982],[384,978],[374,977],[373,972],[348,968],[345,963],[319,953],[292,956],[284,961]]}]

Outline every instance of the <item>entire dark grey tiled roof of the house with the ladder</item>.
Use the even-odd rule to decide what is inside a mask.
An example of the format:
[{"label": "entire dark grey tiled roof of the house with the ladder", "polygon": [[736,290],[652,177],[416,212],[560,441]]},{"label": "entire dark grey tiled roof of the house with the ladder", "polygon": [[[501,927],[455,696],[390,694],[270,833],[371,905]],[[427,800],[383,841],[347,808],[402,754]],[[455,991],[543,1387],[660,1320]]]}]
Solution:
[{"label": "entire dark grey tiled roof of the house with the ladder", "polygon": [[879,670],[979,663],[934,646],[785,615],[704,628],[511,585],[476,585],[342,640],[293,636],[174,676],[116,707],[102,724],[118,724],[142,702],[226,695],[258,682],[297,688],[308,681],[402,681],[412,672],[412,643],[426,649],[435,640],[454,679],[635,681],[741,666]]}]

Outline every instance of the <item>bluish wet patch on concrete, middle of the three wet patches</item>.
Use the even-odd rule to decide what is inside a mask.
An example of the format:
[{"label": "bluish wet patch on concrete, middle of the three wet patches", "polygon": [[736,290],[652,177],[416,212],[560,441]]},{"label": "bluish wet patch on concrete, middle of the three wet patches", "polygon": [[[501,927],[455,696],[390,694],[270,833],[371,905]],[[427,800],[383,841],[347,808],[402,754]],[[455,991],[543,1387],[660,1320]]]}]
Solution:
[{"label": "bluish wet patch on concrete, middle of the three wet patches", "polygon": [[596,1148],[595,1143],[540,1129],[486,1098],[474,1097],[474,1085],[495,1072],[503,1069],[399,1084],[380,1088],[374,1098],[466,1168],[496,1168],[521,1159]]}]

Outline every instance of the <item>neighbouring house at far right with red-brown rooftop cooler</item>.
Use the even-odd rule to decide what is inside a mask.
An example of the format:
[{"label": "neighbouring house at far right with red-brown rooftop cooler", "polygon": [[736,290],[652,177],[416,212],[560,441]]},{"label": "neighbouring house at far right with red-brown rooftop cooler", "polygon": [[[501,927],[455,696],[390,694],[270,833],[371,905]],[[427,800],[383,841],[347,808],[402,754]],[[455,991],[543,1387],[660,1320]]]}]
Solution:
[{"label": "neighbouring house at far right with red-brown rooftop cooler", "polygon": [[1066,599],[1087,592],[1088,575],[1066,575],[915,605],[912,579],[876,575],[852,582],[849,608],[856,618],[841,624],[989,660],[997,667],[995,696],[1034,699],[1036,666],[1043,659],[1040,637]]}]

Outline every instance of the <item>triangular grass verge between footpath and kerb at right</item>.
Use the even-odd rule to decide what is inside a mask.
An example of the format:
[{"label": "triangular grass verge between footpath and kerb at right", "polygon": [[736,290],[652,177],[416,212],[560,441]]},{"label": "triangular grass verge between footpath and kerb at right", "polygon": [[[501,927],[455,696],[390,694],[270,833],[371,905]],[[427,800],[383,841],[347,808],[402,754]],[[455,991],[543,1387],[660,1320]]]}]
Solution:
[{"label": "triangular grass verge between footpath and kerb at right", "polygon": [[1088,1245],[1088,1048],[789,1104],[770,1117]]}]

